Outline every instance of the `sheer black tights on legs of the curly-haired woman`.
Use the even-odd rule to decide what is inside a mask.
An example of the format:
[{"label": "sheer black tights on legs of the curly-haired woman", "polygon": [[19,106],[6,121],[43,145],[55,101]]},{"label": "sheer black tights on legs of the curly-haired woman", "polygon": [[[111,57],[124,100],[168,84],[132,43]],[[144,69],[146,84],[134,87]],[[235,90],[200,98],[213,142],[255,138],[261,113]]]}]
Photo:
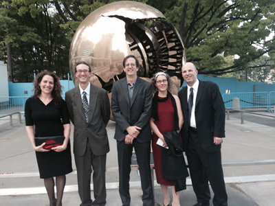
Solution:
[{"label": "sheer black tights on legs of the curly-haired woman", "polygon": [[47,196],[50,199],[50,206],[61,206],[62,205],[62,197],[64,192],[64,187],[66,183],[66,176],[56,176],[56,196],[54,196],[54,178],[50,177],[44,179],[44,185],[47,190]]}]

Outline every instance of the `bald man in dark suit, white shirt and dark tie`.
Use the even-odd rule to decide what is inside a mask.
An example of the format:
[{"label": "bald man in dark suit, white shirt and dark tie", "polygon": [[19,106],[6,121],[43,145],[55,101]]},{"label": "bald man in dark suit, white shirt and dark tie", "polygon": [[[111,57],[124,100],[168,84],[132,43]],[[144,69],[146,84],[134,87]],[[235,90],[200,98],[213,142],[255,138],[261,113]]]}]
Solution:
[{"label": "bald man in dark suit, white shirt and dark tie", "polygon": [[210,190],[214,192],[214,206],[228,205],[223,169],[221,143],[225,137],[225,108],[219,87],[213,82],[197,80],[197,68],[192,62],[182,66],[187,86],[179,91],[184,126],[181,128],[188,159],[193,190],[197,203],[209,205]]}]

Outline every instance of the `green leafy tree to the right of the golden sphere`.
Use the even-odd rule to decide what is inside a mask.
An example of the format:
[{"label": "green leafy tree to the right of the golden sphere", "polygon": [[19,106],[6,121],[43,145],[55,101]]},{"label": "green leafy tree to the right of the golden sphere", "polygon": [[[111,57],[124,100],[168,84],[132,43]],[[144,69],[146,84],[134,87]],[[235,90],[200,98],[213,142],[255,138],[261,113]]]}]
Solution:
[{"label": "green leafy tree to the right of the golden sphere", "polygon": [[[274,59],[274,38],[265,40],[274,31],[274,5],[274,0],[178,0],[165,15],[179,28],[187,60],[199,73],[221,75],[252,69],[248,63],[264,54]],[[224,57],[236,55],[228,65]]]}]

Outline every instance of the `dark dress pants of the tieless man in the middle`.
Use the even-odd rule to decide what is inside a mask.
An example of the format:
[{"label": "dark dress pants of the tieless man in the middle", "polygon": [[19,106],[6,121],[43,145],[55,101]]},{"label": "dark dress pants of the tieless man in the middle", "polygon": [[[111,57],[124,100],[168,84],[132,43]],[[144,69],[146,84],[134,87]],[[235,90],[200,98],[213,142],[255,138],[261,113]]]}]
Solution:
[{"label": "dark dress pants of the tieless man in the middle", "polygon": [[137,156],[137,164],[140,170],[140,180],[142,184],[142,202],[143,206],[153,206],[154,196],[151,181],[150,152],[151,141],[144,143],[133,140],[133,144],[125,144],[125,141],[117,141],[118,148],[118,168],[120,175],[119,192],[123,206],[129,206],[131,196],[129,192],[129,181],[131,172],[131,157],[133,148]]}]

